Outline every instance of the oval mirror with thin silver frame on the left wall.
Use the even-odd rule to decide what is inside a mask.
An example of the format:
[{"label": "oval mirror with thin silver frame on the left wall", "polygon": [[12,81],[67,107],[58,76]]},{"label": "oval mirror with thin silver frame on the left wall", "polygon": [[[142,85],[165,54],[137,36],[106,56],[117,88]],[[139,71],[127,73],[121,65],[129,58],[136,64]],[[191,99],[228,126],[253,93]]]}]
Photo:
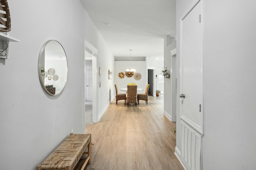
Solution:
[{"label": "oval mirror with thin silver frame on the left wall", "polygon": [[68,78],[68,61],[58,41],[44,43],[38,58],[38,75],[48,94],[56,96],[64,90]]}]

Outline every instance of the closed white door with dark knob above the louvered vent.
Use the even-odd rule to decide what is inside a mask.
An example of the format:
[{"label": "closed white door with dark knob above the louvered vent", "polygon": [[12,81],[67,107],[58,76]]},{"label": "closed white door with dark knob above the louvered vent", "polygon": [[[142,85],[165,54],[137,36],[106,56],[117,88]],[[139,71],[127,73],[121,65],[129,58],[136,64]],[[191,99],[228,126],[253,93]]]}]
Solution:
[{"label": "closed white door with dark knob above the louvered vent", "polygon": [[[203,134],[202,2],[181,21],[181,118]],[[183,97],[182,97],[183,96]]]}]

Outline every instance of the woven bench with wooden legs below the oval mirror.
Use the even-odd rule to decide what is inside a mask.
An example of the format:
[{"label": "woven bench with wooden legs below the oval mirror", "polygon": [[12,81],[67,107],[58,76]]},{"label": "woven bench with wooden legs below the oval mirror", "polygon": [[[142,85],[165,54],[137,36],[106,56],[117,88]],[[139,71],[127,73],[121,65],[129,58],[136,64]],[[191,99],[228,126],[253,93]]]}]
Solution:
[{"label": "woven bench with wooden legs below the oval mirror", "polygon": [[[84,150],[88,147],[88,152]],[[88,154],[81,170],[91,163],[91,134],[71,133],[36,170],[74,170],[82,154]]]}]

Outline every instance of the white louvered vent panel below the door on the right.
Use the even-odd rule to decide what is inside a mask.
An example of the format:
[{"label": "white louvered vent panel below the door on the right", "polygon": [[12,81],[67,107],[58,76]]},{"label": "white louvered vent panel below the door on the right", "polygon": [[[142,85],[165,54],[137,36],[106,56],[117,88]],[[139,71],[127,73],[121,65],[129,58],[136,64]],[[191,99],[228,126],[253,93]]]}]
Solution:
[{"label": "white louvered vent panel below the door on the right", "polygon": [[201,170],[201,135],[181,121],[181,156],[191,170]]}]

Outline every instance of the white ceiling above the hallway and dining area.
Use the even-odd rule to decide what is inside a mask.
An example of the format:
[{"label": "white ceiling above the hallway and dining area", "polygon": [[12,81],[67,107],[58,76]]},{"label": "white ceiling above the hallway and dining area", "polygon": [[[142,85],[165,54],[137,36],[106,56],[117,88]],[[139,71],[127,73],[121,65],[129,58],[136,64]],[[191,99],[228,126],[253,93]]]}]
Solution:
[{"label": "white ceiling above the hallway and dining area", "polygon": [[164,37],[176,37],[175,0],[80,1],[114,57],[132,49],[132,57],[163,58]]}]

